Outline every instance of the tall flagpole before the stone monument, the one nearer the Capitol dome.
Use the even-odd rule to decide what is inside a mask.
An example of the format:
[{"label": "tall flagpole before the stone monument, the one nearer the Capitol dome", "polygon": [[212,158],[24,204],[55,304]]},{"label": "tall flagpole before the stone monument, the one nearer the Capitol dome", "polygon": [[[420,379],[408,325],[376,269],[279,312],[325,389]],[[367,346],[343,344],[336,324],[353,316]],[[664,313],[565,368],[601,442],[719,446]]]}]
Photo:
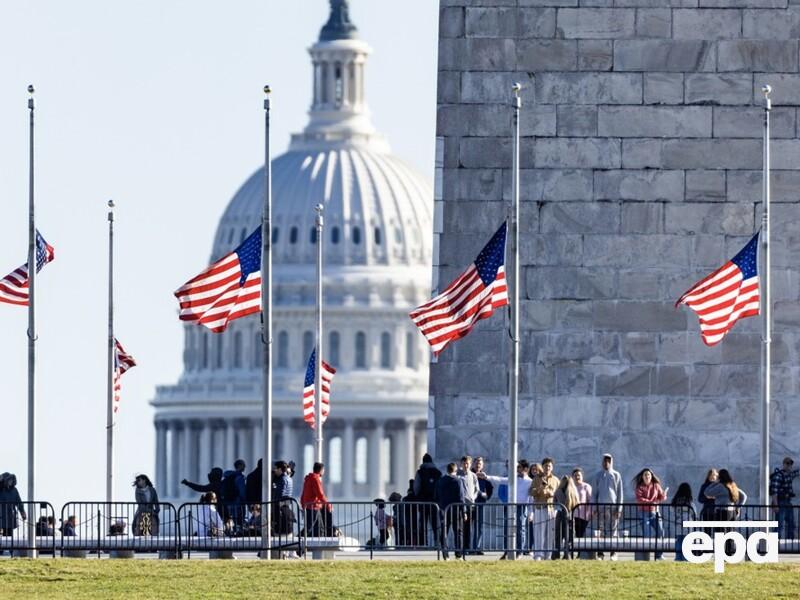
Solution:
[{"label": "tall flagpole before the stone monument, the one nearer the Capitol dome", "polygon": [[[515,83],[513,113],[513,158],[511,166],[511,369],[509,373],[509,443],[508,443],[508,501],[517,501],[517,421],[519,420],[519,113],[522,108],[522,86]],[[511,511],[509,559],[516,558],[516,510]]]}]

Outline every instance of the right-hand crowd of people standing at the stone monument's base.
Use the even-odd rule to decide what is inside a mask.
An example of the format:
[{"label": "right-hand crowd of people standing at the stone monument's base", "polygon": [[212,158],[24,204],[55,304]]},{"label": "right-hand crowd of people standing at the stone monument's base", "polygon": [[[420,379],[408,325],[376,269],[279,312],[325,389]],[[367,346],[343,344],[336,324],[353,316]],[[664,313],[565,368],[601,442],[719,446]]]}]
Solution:
[{"label": "right-hand crowd of people standing at the stone monument's base", "polygon": [[[418,535],[424,536],[429,528],[437,536],[445,559],[448,556],[446,540],[450,535],[458,548],[456,558],[483,553],[484,505],[495,490],[502,503],[516,506],[516,543],[509,552],[517,555],[531,554],[536,560],[569,558],[570,536],[585,537],[590,528],[594,535],[618,536],[623,519],[624,486],[622,476],[614,469],[613,456],[603,454],[601,468],[591,477],[586,477],[580,467],[558,477],[554,468],[555,463],[549,457],[540,463],[520,460],[516,469],[516,498],[509,499],[509,478],[485,473],[482,457],[473,461],[470,456],[463,456],[459,465],[449,463],[443,474],[426,454],[413,481],[413,489],[403,500],[435,502],[445,514],[444,522],[439,523],[435,515],[423,509],[417,524]],[[792,482],[798,474],[800,470],[794,469],[792,459],[786,457],[782,467],[770,476],[771,504],[778,516],[779,534],[784,538],[792,538],[796,532]],[[669,488],[663,487],[651,468],[639,471],[631,483],[636,513],[626,514],[624,518],[638,520],[644,537],[663,537],[660,505],[668,501]],[[747,494],[737,486],[727,469],[711,469],[700,487],[697,501],[700,513],[695,512],[695,497],[688,482],[682,482],[669,501],[676,534],[675,554],[679,561],[684,560],[681,552],[683,521],[693,515],[705,520],[737,520]],[[574,523],[570,523],[571,518]],[[505,538],[509,537],[506,532]],[[595,556],[604,558],[603,553]],[[609,558],[616,560],[616,553],[609,553]],[[656,560],[663,560],[662,552],[656,551]]]}]

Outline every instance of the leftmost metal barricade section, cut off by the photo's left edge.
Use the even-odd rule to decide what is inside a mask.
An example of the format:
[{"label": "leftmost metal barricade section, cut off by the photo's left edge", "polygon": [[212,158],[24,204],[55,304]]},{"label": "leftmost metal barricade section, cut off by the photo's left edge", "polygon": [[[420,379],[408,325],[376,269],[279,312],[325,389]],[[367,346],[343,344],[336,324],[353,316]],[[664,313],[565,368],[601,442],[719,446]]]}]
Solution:
[{"label": "leftmost metal barricade section, cut off by the photo's left edge", "polygon": [[0,502],[0,554],[55,554],[55,530],[49,502]]}]

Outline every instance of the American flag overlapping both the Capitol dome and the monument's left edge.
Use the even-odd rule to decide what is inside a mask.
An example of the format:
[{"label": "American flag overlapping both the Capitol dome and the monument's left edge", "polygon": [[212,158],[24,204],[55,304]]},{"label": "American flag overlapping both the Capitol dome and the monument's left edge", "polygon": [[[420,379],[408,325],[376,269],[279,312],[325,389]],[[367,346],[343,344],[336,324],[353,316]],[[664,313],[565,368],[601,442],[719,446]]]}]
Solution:
[{"label": "American flag overlapping both the Capitol dome and the monument's left edge", "polygon": [[467,335],[481,319],[508,304],[505,274],[506,223],[478,258],[441,294],[411,312],[411,320],[434,354]]}]

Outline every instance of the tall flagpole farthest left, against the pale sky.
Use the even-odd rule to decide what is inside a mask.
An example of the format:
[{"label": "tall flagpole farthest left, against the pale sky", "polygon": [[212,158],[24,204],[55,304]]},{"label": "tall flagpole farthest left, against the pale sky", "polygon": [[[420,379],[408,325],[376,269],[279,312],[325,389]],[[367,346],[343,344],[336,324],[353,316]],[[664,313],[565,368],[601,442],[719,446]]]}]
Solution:
[{"label": "tall flagpole farthest left, against the pale sky", "polygon": [[[28,157],[28,502],[36,499],[36,220],[33,194],[33,85],[28,86],[30,142]],[[34,515],[28,515],[30,556],[36,556]]]}]

